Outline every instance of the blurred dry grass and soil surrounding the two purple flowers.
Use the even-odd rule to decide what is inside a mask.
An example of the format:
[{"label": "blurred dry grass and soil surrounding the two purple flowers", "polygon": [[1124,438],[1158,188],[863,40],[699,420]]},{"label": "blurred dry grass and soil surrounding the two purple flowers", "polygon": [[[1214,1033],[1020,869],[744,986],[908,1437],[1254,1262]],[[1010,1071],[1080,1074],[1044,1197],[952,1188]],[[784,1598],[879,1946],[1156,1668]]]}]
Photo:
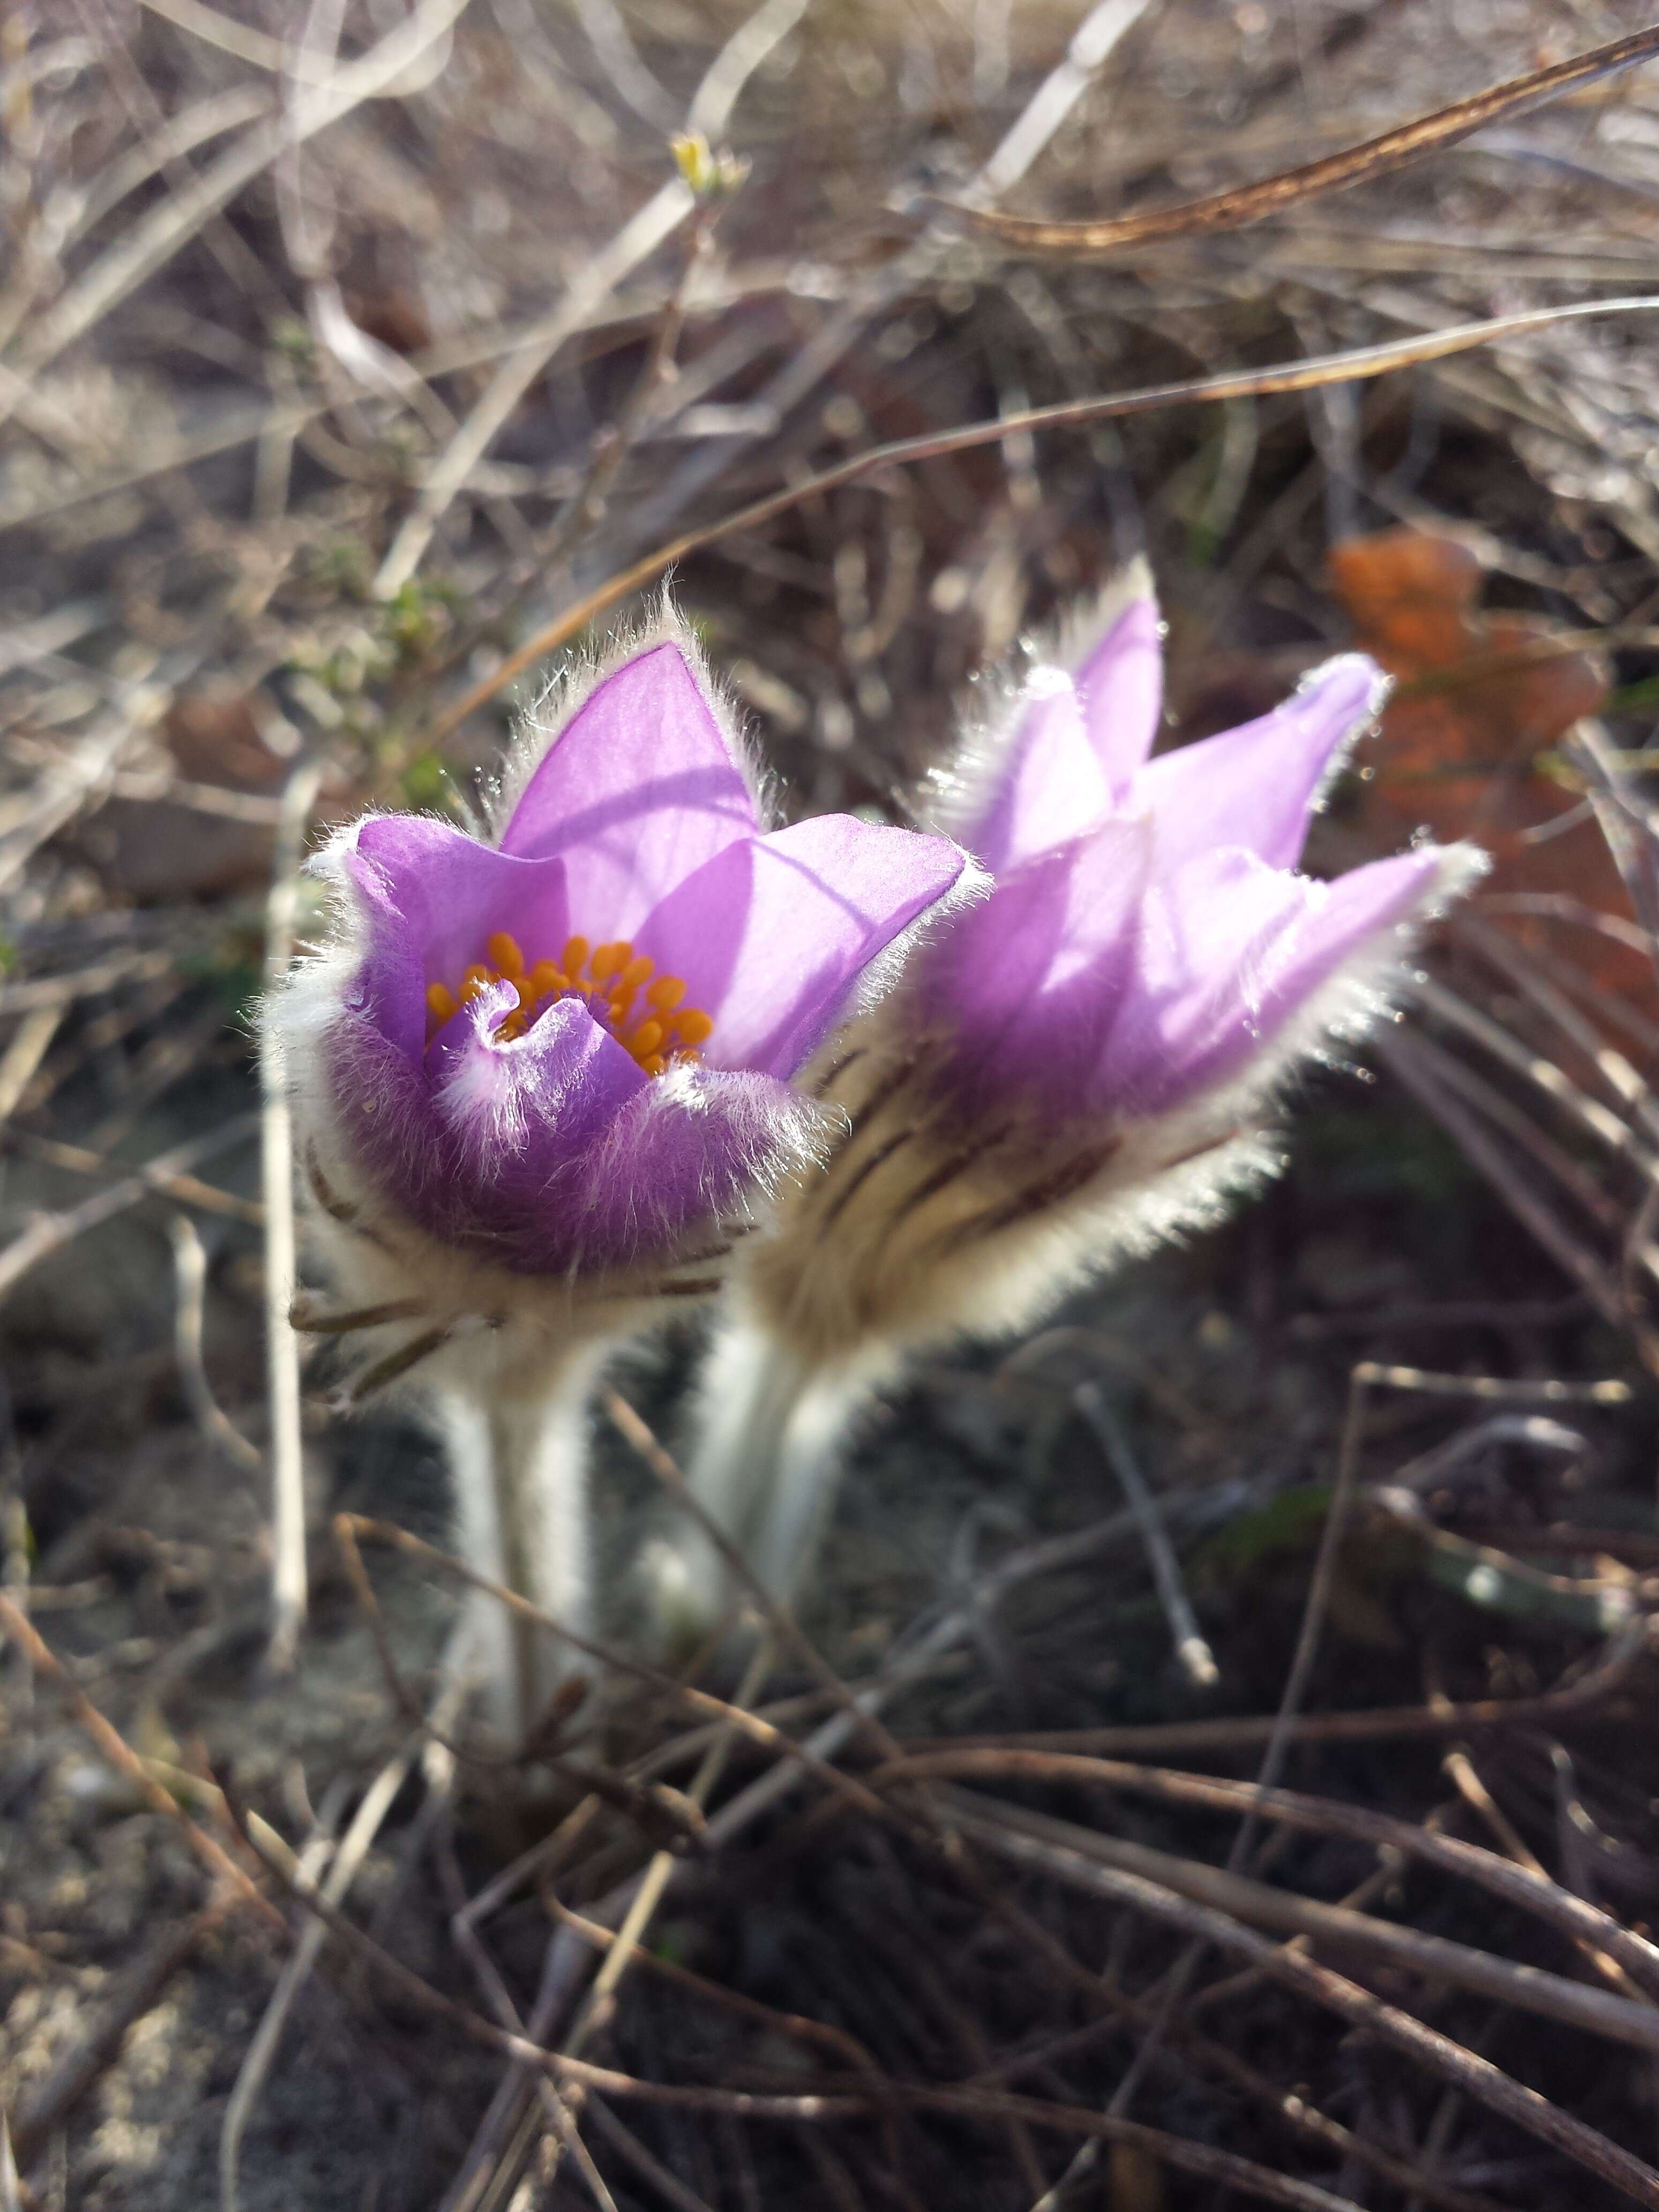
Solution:
[{"label": "blurred dry grass and soil surrounding the two purple flowers", "polygon": [[[1148,2132],[1119,2128],[1064,2203],[1659,2203],[1659,2174],[1619,2181],[1586,2148],[1659,2161],[1659,2044],[1626,2015],[1595,2028],[1555,1993],[1542,2017],[1467,1960],[1458,1982],[1352,1929],[1321,1940],[1354,1986],[1571,2117],[1551,2148],[1283,1975],[1208,1949],[1170,1984],[1183,1938],[1121,1898],[1053,1865],[942,1860],[916,1823],[814,1814],[823,1792],[690,1851],[655,1964],[584,2046],[688,2095],[566,2084],[582,2148],[564,2148],[560,2115],[440,2000],[538,2017],[562,1913],[615,1920],[650,1845],[697,1832],[677,1796],[697,1741],[664,1694],[595,1699],[526,1809],[524,1774],[411,1730],[383,1659],[422,1694],[451,1593],[374,1553],[372,1619],[327,1517],[440,1540],[442,1475],[411,1420],[330,1422],[321,1387],[312,1617],[296,1668],[263,1670],[270,1223],[248,1022],[272,945],[305,931],[303,843],[365,805],[465,816],[535,695],[509,655],[626,619],[637,599],[582,611],[677,535],[891,440],[1655,290],[1659,75],[1577,84],[1239,228],[1033,254],[962,208],[1179,206],[1644,13],[0,4],[0,1548],[9,1604],[126,1743],[126,1761],[100,1747],[11,1635],[0,2205],[1002,2212],[1062,2201],[1075,2115],[1126,2081]],[[732,157],[730,190],[688,190],[684,133]],[[1365,644],[1400,688],[1314,865],[1420,825],[1500,863],[1409,1026],[1310,1091],[1261,1208],[1033,1345],[925,1371],[869,1436],[807,1628],[847,1681],[883,1686],[900,1739],[1084,1730],[1250,1776],[1312,1619],[1285,1781],[1544,1867],[1626,1924],[1659,1907],[1652,347],[1652,316],[1564,321],[1376,380],[1011,427],[807,489],[675,564],[792,812],[905,818],[975,672],[1144,551],[1166,743]],[[686,1334],[622,1376],[668,1442],[692,1356]],[[1356,1360],[1354,1489],[1310,1613]],[[1402,1365],[1462,1383],[1378,1380]],[[1139,1524],[1091,1389],[1150,1489]],[[653,1491],[613,1427],[599,1442],[626,1641]],[[1172,1659],[1148,1513],[1212,1686]],[[717,1666],[701,1679],[730,1690]],[[765,1697],[792,1734],[825,1710],[792,1655]],[[849,1763],[874,1756],[858,1741]],[[734,1747],[708,1803],[768,1761]],[[272,1913],[223,1900],[146,1778]],[[1378,1856],[1380,1832],[1272,1827],[1239,1858],[1237,1807],[1099,1778],[987,1787],[1009,1820],[1064,1814],[1068,1849],[1088,1823],[1164,1851],[1166,1876],[1232,1854],[1290,1909],[1349,1898],[1632,2013],[1659,1993],[1398,1838]],[[250,1827],[334,1865],[414,1986],[341,1940],[319,1964]],[[462,1909],[529,1845],[524,1882],[480,1907],[480,1964]],[[254,2039],[261,2015],[279,2042]],[[568,2026],[544,2013],[535,2033]],[[962,2084],[967,2112],[916,2108]],[[737,2093],[863,2106],[754,2119]]]}]

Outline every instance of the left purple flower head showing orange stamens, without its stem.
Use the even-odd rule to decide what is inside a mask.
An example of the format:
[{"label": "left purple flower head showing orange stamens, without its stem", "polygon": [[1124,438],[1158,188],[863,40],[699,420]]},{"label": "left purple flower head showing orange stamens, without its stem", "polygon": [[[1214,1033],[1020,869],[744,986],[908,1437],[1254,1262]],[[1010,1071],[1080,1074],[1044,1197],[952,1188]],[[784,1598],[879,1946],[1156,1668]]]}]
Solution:
[{"label": "left purple flower head showing orange stamens, without its stem", "polygon": [[790,1077],[967,858],[845,814],[765,830],[672,622],[566,690],[509,790],[493,838],[343,832],[334,942],[279,1020],[330,1183],[520,1279],[615,1276],[810,1155]]}]

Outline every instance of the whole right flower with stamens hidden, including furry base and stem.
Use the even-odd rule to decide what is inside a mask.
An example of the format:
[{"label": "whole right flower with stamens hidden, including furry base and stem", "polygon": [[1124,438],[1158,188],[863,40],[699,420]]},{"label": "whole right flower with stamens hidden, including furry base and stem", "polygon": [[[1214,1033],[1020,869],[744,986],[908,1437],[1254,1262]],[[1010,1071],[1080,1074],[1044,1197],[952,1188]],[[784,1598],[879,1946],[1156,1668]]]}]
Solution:
[{"label": "whole right flower with stamens hidden, including furry base and stem", "polygon": [[[900,1356],[1029,1325],[1272,1172],[1261,1115],[1287,1073],[1387,1009],[1411,927],[1484,865],[1422,845],[1301,876],[1383,675],[1343,655],[1259,721],[1150,759],[1159,639],[1137,566],[1004,690],[938,792],[995,887],[814,1071],[841,1135],[743,1259],[697,1453],[703,1502],[774,1588]],[[706,1615],[710,1575],[681,1548],[666,1606]]]}]

